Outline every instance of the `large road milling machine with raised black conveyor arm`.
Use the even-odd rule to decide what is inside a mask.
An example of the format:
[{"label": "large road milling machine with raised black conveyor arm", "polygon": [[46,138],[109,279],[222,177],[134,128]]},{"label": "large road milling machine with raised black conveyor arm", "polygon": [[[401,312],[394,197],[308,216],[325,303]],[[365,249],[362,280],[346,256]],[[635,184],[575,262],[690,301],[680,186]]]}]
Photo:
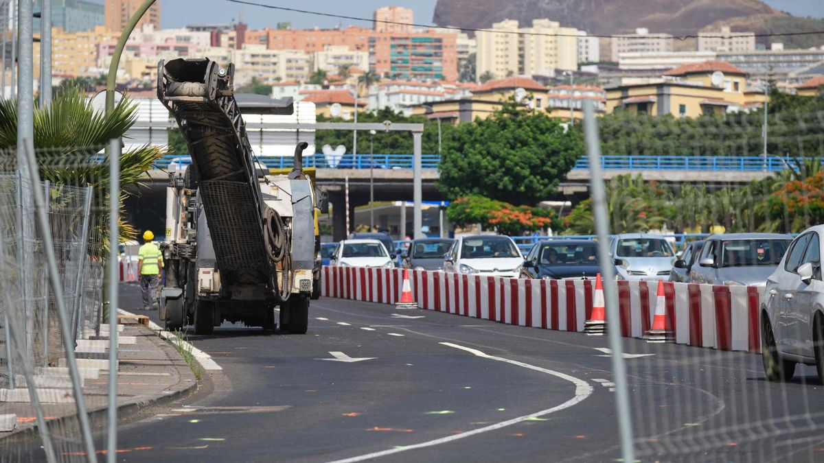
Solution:
[{"label": "large road milling machine with raised black conveyor arm", "polygon": [[170,168],[160,318],[167,330],[194,325],[195,334],[224,320],[305,334],[319,284],[315,213],[326,206],[302,171],[307,143],[297,144],[291,171],[270,175],[246,135],[241,109],[291,115],[292,99],[236,97],[233,77],[232,64],[208,58],[158,65],[157,97],[191,155],[189,166]]}]

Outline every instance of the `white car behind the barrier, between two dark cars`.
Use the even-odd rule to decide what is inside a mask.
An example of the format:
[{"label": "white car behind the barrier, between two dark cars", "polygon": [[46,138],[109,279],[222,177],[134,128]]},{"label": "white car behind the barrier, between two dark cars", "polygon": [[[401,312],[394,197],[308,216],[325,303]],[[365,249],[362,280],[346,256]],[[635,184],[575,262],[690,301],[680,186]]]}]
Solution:
[{"label": "white car behind the barrier, between two dark cars", "polygon": [[509,236],[461,236],[444,256],[443,271],[517,278],[522,264],[521,251]]}]

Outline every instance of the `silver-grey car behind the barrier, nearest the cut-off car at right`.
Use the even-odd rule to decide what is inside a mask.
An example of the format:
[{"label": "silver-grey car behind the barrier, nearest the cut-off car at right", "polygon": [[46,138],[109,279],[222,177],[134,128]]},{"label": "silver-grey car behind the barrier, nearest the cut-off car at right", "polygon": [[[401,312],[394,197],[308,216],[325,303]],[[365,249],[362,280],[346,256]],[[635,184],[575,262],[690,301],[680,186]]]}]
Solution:
[{"label": "silver-grey car behind the barrier, nearest the cut-off car at right", "polygon": [[792,239],[778,233],[709,236],[690,269],[690,282],[764,286]]}]

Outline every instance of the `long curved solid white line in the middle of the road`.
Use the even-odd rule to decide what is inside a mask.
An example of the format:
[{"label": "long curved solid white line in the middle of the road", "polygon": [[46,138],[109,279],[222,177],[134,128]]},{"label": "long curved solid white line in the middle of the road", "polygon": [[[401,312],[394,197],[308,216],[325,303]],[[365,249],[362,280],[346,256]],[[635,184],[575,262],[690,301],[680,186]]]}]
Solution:
[{"label": "long curved solid white line in the middle of the road", "polygon": [[489,358],[490,360],[497,360],[499,362],[506,362],[506,363],[509,363],[509,364],[512,364],[512,365],[517,365],[518,367],[524,367],[524,368],[528,368],[530,370],[535,370],[536,372],[542,372],[542,373],[546,373],[548,375],[557,376],[557,377],[559,377],[561,379],[564,379],[566,381],[570,381],[575,385],[575,396],[572,399],[567,400],[563,404],[556,405],[555,407],[552,407],[551,409],[545,409],[545,410],[541,410],[540,412],[536,412],[534,414],[527,414],[527,415],[524,415],[524,416],[521,416],[521,417],[518,417],[518,418],[508,419],[508,420],[502,421],[500,423],[490,424],[489,426],[485,426],[483,428],[473,429],[471,431],[467,431],[466,433],[452,434],[451,436],[441,437],[440,439],[435,439],[433,441],[421,442],[419,444],[413,444],[413,445],[410,445],[410,446],[391,448],[391,449],[384,450],[384,451],[375,451],[375,452],[372,452],[372,453],[368,453],[366,455],[353,456],[351,458],[344,458],[343,460],[332,461],[330,463],[353,463],[355,461],[372,460],[374,458],[380,458],[382,456],[394,455],[396,453],[400,453],[401,451],[410,451],[410,450],[415,450],[415,449],[424,448],[424,447],[433,447],[433,446],[437,446],[437,445],[440,445],[440,444],[445,444],[447,442],[453,442],[453,441],[456,441],[458,439],[463,439],[465,437],[475,436],[476,434],[487,433],[489,431],[494,431],[496,429],[506,428],[507,426],[512,426],[513,424],[522,423],[522,422],[526,421],[527,419],[538,418],[538,417],[544,416],[546,414],[555,413],[559,410],[568,409],[569,407],[571,407],[573,405],[576,405],[576,404],[578,404],[578,402],[581,402],[582,400],[586,399],[587,397],[589,397],[589,395],[592,395],[592,386],[590,386],[587,381],[583,381],[582,379],[578,379],[574,376],[569,376],[567,374],[564,374],[564,373],[561,373],[561,372],[555,372],[553,370],[549,370],[549,369],[546,369],[546,368],[536,367],[534,365],[530,365],[529,363],[523,363],[523,362],[517,362],[515,360],[509,360],[508,358],[494,357],[492,355],[483,353],[480,350],[476,350],[474,348],[464,347],[464,346],[461,346],[461,345],[458,345],[458,344],[452,344],[452,343],[438,343],[438,344],[442,344],[442,345],[445,345],[445,346],[448,346],[448,347],[451,347],[451,348],[459,348],[459,349],[464,350],[468,353],[473,353],[473,354],[477,355],[478,357]]}]

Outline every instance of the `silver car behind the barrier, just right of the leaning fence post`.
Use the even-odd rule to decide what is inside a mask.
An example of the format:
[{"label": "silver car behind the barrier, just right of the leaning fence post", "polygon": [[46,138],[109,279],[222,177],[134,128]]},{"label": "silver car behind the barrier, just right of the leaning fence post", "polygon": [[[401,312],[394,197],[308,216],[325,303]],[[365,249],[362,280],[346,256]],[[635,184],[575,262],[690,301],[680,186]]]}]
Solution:
[{"label": "silver car behind the barrier, just right of the leaning fence post", "polygon": [[650,233],[624,233],[612,237],[612,257],[619,278],[663,280],[669,278],[675,251],[663,236]]}]

